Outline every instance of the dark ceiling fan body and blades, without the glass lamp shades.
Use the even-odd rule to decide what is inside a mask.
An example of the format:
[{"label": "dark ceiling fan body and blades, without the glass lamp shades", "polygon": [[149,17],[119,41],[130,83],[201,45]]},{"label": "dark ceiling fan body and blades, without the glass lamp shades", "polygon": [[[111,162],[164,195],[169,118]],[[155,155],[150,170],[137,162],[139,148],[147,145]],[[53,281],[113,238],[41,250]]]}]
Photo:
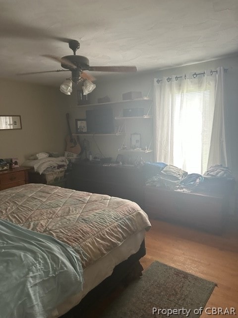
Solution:
[{"label": "dark ceiling fan body and blades, without the glass lamp shades", "polygon": [[43,71],[43,72],[30,72],[30,73],[21,73],[17,75],[31,75],[31,74],[40,74],[40,73],[52,73],[52,72],[67,72],[70,71],[72,76],[71,80],[74,83],[88,79],[90,81],[95,78],[85,73],[84,71],[93,71],[93,72],[136,72],[137,69],[135,66],[90,66],[89,60],[85,56],[76,55],[76,51],[79,49],[80,44],[77,40],[64,39],[64,42],[68,42],[69,48],[73,51],[73,55],[66,55],[64,57],[58,57],[55,55],[45,54],[44,57],[50,58],[54,61],[60,62],[61,67],[65,70],[55,70],[55,71]]}]

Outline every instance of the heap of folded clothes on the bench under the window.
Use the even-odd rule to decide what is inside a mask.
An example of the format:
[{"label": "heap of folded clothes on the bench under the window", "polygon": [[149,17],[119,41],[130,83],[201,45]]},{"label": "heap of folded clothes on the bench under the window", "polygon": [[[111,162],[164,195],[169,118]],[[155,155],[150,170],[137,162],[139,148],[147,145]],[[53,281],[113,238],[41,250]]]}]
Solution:
[{"label": "heap of folded clothes on the bench under the window", "polygon": [[220,195],[231,193],[235,188],[235,178],[228,167],[222,164],[211,166],[203,175],[190,173],[164,162],[148,163],[146,169],[151,173],[145,184],[170,190]]}]

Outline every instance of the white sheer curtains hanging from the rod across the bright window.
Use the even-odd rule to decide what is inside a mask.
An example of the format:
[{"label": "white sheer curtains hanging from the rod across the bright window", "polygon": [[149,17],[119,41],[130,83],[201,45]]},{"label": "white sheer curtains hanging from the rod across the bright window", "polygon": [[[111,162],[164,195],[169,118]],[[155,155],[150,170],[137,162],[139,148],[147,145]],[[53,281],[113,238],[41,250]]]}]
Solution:
[{"label": "white sheer curtains hanging from the rod across the bright window", "polygon": [[224,69],[193,77],[154,80],[155,161],[188,173],[227,165],[224,128]]}]

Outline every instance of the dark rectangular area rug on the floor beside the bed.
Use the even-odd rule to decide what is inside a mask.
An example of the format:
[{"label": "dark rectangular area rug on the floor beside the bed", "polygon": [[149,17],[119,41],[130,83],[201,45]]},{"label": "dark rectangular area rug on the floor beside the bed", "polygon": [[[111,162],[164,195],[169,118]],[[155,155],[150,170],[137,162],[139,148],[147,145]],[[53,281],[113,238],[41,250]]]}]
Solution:
[{"label": "dark rectangular area rug on the floor beside the bed", "polygon": [[215,283],[155,261],[100,318],[200,317]]}]

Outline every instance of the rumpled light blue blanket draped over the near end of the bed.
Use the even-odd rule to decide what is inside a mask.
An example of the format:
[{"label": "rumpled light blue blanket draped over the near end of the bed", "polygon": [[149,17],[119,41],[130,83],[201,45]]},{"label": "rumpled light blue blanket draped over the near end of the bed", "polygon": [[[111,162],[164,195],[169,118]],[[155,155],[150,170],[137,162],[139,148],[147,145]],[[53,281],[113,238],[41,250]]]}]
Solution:
[{"label": "rumpled light blue blanket draped over the near end of the bed", "polygon": [[0,220],[1,318],[47,318],[82,290],[82,277],[70,246]]}]

